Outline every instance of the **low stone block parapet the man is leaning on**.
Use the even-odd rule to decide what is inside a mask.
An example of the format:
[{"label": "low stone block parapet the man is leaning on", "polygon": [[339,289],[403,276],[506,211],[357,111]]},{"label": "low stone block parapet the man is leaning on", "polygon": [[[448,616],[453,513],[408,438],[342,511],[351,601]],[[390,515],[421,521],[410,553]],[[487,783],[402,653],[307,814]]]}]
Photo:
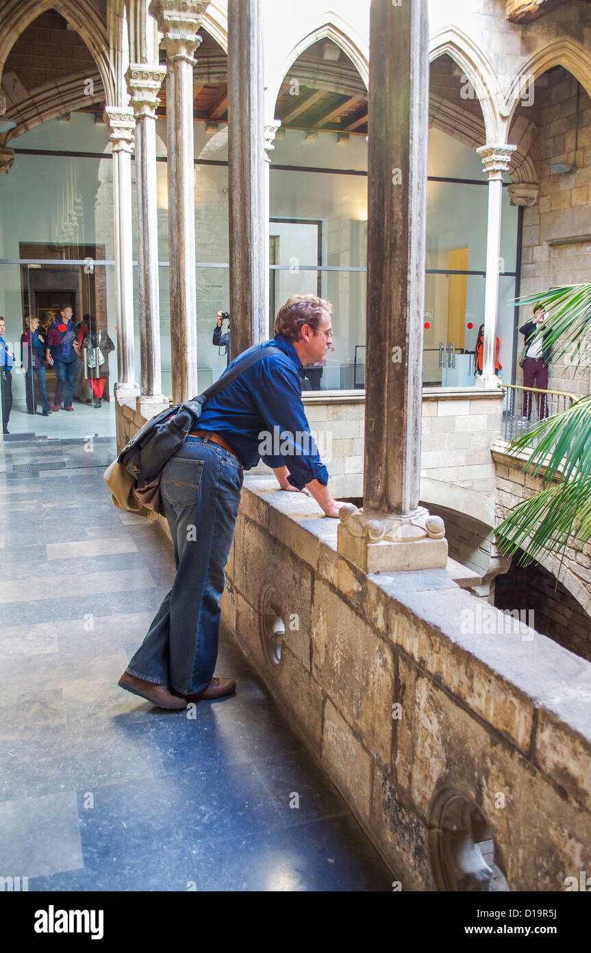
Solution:
[{"label": "low stone block parapet the man is leaning on", "polygon": [[511,890],[563,890],[591,866],[591,664],[507,631],[446,570],[364,576],[336,537],[246,476],[222,600],[246,657],[404,890],[449,888],[446,797],[473,805]]}]

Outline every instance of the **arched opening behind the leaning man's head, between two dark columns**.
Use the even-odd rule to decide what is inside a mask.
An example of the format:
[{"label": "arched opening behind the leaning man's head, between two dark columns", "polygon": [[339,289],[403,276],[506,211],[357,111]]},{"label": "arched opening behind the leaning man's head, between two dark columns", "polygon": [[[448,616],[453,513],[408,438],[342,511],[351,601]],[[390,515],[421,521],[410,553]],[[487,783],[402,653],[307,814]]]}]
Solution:
[{"label": "arched opening behind the leaning man's head, between two dark columns", "polygon": [[332,39],[286,72],[270,172],[269,321],[290,294],[332,302],[334,349],[302,371],[304,390],[364,385],[367,91]]}]

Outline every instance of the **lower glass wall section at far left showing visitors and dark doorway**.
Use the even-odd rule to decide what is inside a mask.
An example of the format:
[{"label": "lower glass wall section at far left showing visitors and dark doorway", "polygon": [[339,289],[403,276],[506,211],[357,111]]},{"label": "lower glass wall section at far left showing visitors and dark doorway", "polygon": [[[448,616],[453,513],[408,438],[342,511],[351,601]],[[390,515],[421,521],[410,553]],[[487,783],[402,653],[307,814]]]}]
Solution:
[{"label": "lower glass wall section at far left showing visitors and dark doorway", "polygon": [[[12,439],[82,437],[89,439],[90,453],[94,437],[114,436],[114,280],[112,266],[64,260],[0,264],[0,314],[6,323],[4,338],[14,355],[7,444]],[[76,329],[69,340],[69,354],[60,352],[58,357],[49,348],[49,325],[56,322],[62,330],[69,316],[64,314],[67,308]],[[30,330],[37,333],[38,347],[30,346]],[[37,344],[34,337],[33,343]],[[66,369],[63,373],[62,368]],[[53,409],[58,406],[59,410]],[[67,407],[73,410],[68,412]]]}]

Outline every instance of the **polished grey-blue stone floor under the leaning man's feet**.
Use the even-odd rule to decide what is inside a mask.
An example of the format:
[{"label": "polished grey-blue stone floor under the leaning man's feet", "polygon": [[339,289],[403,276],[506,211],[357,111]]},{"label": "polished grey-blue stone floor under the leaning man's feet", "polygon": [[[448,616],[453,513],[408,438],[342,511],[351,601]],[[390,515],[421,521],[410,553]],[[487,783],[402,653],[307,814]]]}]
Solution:
[{"label": "polished grey-blue stone floor under the leaning man's feet", "polygon": [[238,693],[193,719],[117,687],[174,566],[158,526],[110,504],[112,456],[100,439],[0,452],[0,876],[44,891],[390,889],[227,632],[217,672]]}]

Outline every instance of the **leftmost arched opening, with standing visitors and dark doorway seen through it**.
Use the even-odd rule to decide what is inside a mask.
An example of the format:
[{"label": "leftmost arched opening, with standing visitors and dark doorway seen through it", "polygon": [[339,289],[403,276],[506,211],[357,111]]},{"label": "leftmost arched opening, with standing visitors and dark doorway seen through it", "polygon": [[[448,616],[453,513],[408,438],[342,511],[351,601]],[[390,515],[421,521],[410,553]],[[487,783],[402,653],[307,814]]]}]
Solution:
[{"label": "leftmost arched opening, with standing visitors and dark doorway seen through it", "polygon": [[[117,331],[112,169],[101,72],[80,33],[60,12],[46,10],[20,32],[8,53],[2,94],[7,111],[0,142],[15,154],[10,174],[0,176],[0,258],[10,262],[0,265],[0,313],[15,366],[21,345],[24,366],[32,364],[27,374],[13,375],[10,434],[110,436],[109,371],[112,380]],[[61,361],[51,351],[51,364],[49,325],[55,319],[61,326],[68,307],[72,340],[65,350],[59,345],[59,358],[69,359]],[[30,319],[38,320],[46,345],[38,357],[28,351]],[[84,356],[89,348],[81,347],[78,357],[73,347],[74,339],[82,346],[87,334],[104,344],[94,368],[92,357],[89,363]],[[68,365],[64,386],[57,373],[62,363]],[[58,406],[78,413],[47,413]],[[94,413],[98,410],[101,414]]]}]

